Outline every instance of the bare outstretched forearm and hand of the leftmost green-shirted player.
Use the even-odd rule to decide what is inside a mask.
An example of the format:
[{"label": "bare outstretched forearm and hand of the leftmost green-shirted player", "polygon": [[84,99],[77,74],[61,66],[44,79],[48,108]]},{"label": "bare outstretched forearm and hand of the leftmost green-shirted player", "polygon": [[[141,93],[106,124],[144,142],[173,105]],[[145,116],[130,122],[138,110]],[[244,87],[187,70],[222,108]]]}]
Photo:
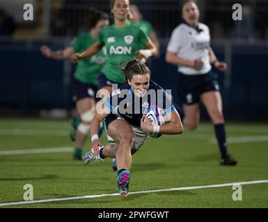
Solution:
[{"label": "bare outstretched forearm and hand of the leftmost green-shirted player", "polygon": [[52,58],[54,60],[66,60],[75,53],[74,49],[70,46],[63,50],[52,51],[47,45],[42,45],[40,48],[41,53],[47,58]]}]

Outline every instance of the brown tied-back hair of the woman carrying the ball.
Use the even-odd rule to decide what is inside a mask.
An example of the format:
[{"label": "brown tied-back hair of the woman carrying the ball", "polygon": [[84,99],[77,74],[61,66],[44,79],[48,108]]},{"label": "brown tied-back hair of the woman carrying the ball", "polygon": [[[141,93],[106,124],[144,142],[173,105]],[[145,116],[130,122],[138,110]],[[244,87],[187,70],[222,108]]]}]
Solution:
[{"label": "brown tied-back hair of the woman carrying the ball", "polygon": [[120,62],[119,68],[125,74],[125,80],[132,80],[133,75],[145,75],[150,73],[150,69],[143,64],[140,60],[134,59],[129,62],[122,61]]}]

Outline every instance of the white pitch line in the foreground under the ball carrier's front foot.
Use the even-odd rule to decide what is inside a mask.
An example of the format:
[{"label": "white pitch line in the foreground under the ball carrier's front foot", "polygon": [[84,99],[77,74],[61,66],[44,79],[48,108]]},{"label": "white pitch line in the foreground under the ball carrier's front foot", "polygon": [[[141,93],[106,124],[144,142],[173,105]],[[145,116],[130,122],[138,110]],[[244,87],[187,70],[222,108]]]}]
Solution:
[{"label": "white pitch line in the foreground under the ball carrier's front foot", "polygon": [[[268,180],[255,180],[255,181],[247,181],[247,182],[231,182],[231,183],[223,183],[221,185],[205,185],[198,187],[178,187],[171,189],[155,189],[155,190],[147,190],[147,191],[134,191],[129,192],[129,195],[132,194],[148,194],[148,193],[157,193],[157,192],[165,192],[165,191],[180,191],[180,190],[189,190],[189,189],[204,189],[204,188],[215,188],[215,187],[230,187],[233,185],[253,185],[260,183],[268,183]],[[22,201],[22,202],[10,202],[10,203],[0,203],[0,207],[9,206],[9,205],[24,205],[24,204],[34,204],[34,203],[47,203],[47,202],[56,202],[56,201],[64,201],[64,200],[81,200],[88,198],[100,198],[104,196],[118,196],[119,194],[100,194],[100,195],[89,195],[89,196],[75,196],[68,198],[55,198],[55,199],[46,199],[46,200],[32,200],[32,201]]]}]

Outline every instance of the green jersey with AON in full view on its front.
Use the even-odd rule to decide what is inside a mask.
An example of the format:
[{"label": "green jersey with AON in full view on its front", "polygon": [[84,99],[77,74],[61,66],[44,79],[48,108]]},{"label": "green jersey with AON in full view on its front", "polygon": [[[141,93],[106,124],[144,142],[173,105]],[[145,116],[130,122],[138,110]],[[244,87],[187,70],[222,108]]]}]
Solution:
[{"label": "green jersey with AON in full view on its front", "polygon": [[148,35],[130,22],[123,28],[114,24],[102,28],[98,41],[107,49],[106,63],[102,69],[104,76],[113,82],[125,83],[125,75],[119,68],[120,62],[133,60],[139,49],[146,49],[148,40]]}]

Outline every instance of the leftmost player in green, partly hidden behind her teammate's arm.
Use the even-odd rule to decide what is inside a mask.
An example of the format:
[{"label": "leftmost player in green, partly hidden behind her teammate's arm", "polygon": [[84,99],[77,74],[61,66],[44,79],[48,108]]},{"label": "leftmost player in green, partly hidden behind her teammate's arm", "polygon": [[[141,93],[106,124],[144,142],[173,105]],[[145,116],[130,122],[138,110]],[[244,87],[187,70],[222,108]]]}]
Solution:
[{"label": "leftmost player in green, partly hidden behind her teammate's arm", "polygon": [[[89,12],[90,20],[88,21],[90,31],[79,35],[75,38],[70,46],[63,50],[52,51],[48,46],[43,45],[41,52],[47,58],[55,60],[69,59],[73,53],[84,51],[88,46],[94,44],[99,36],[100,30],[109,25],[109,16],[100,10],[91,9]],[[97,93],[97,76],[105,62],[104,51],[100,50],[95,56],[81,60],[72,79],[72,90],[74,101],[76,103],[79,119],[74,120],[73,138],[75,140],[74,160],[81,160],[82,148],[86,142],[86,136],[90,129],[90,121],[95,114],[95,99]]]}]

